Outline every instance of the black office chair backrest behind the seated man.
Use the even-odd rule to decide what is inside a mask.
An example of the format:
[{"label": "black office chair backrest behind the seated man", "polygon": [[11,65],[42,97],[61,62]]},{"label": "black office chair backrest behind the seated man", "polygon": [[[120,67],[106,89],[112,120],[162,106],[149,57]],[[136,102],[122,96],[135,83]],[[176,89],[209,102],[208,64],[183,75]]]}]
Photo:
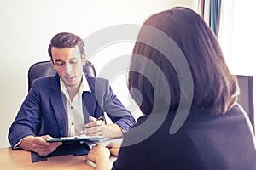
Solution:
[{"label": "black office chair backrest behind the seated man", "polygon": [[[96,77],[96,71],[94,66],[90,63],[90,61],[86,61],[83,70],[85,73],[90,74],[92,77]],[[56,71],[54,70],[53,66],[51,65],[50,61],[39,61],[28,69],[28,91],[32,86],[33,80],[39,77],[49,77],[54,76]]]}]

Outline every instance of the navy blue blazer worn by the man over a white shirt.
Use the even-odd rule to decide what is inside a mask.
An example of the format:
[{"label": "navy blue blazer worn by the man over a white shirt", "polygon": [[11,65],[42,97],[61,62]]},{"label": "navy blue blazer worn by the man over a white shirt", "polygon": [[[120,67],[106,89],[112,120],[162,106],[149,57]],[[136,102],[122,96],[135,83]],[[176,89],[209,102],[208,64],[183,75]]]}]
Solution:
[{"label": "navy blue blazer worn by the man over a white shirt", "polygon": [[[127,131],[135,119],[113,94],[108,80],[88,74],[85,77],[91,92],[82,94],[84,116],[99,117],[105,111],[112,122]],[[29,94],[9,128],[9,143],[12,147],[28,135],[67,136],[67,113],[61,95],[60,77],[57,74],[33,81]]]}]

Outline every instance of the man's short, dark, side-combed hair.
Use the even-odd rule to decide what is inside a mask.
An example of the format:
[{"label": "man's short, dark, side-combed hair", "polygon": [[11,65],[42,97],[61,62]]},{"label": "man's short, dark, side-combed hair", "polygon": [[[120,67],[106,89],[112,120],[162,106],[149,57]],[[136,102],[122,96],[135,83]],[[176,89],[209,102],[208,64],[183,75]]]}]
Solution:
[{"label": "man's short, dark, side-combed hair", "polygon": [[51,40],[48,48],[48,53],[52,59],[51,48],[74,48],[76,45],[79,47],[81,56],[84,54],[83,40],[69,32],[61,32],[56,34]]}]

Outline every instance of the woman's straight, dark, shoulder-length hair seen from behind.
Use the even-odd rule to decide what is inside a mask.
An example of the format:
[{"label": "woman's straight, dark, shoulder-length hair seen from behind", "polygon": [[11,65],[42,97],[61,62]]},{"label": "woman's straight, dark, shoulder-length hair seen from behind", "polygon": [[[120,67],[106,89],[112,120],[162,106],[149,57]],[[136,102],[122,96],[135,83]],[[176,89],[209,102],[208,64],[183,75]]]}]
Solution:
[{"label": "woman's straight, dark, shoulder-length hair seen from behind", "polygon": [[[236,76],[230,74],[217,37],[199,14],[189,8],[176,7],[152,15],[144,22],[143,26],[152,26],[171,37],[187,59],[193,78],[191,109],[207,109],[210,114],[224,114],[235,105],[239,91]],[[164,41],[156,42],[154,36],[143,29],[139,32],[137,40],[139,37],[147,37],[150,42],[166,43]],[[170,55],[172,56],[172,54]],[[144,72],[151,71],[154,77],[154,68],[148,68],[148,65],[140,63],[137,56],[143,56],[153,61],[157,65],[157,69],[163,72],[168,82],[169,87],[167,88],[171,93],[171,102],[165,103],[167,94],[154,93],[155,90],[160,90],[153,88],[154,83],[161,84],[161,81],[150,82],[143,72],[135,71],[136,67]],[[185,76],[183,75],[183,77]],[[183,93],[177,71],[172,63],[160,50],[139,41],[136,42],[131,56],[128,88],[144,114],[150,114],[154,105],[159,105],[159,107],[168,105],[169,110],[177,110],[181,93]],[[137,88],[141,95],[133,94],[132,89],[134,88]],[[158,103],[155,103],[155,94],[161,95],[161,101]]]}]

